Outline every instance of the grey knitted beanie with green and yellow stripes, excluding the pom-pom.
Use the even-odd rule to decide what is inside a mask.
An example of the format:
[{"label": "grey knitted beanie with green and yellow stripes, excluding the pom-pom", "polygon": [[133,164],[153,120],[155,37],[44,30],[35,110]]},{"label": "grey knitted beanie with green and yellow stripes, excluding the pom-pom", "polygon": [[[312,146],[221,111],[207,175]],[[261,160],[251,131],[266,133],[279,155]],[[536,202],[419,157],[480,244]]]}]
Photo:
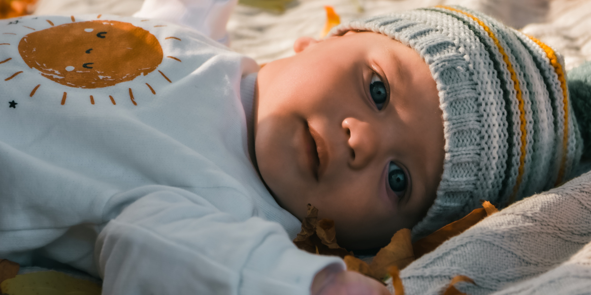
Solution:
[{"label": "grey knitted beanie with green and yellow stripes, excluding the pom-pom", "polygon": [[558,185],[579,163],[582,139],[563,58],[548,45],[459,6],[436,6],[339,25],[374,31],[423,58],[437,83],[445,158],[437,198],[413,240],[482,207]]}]

